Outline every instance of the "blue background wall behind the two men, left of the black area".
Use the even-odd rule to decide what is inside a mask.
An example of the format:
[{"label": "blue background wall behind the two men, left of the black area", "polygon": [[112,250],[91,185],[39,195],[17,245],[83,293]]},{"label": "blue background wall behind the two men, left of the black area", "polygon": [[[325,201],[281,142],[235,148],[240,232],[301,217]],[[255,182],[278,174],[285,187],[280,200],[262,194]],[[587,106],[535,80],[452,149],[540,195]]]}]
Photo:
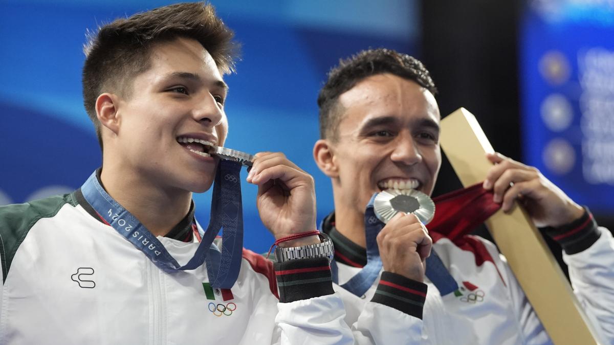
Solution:
[{"label": "blue background wall behind the two men, left of the black area", "polygon": [[[319,218],[332,211],[330,182],[313,163],[317,92],[325,73],[363,48],[416,54],[416,1],[211,1],[243,44],[230,94],[227,147],[282,151],[316,179]],[[169,1],[0,1],[0,204],[78,188],[100,164],[82,106],[86,29]],[[385,6],[383,6],[385,5]],[[243,185],[245,245],[273,241]],[[195,195],[208,222],[209,193]]]}]

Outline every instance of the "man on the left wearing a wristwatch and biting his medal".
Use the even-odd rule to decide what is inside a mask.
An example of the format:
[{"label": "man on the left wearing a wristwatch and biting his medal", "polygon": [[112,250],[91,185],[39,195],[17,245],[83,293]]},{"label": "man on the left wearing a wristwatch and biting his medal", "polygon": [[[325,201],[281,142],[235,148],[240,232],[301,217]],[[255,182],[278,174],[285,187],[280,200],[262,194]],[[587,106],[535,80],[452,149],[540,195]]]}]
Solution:
[{"label": "man on the left wearing a wristwatch and biting his medal", "polygon": [[[201,3],[91,35],[84,103],[103,165],[74,193],[0,207],[1,344],[352,343],[326,241],[288,239],[320,251],[275,268],[242,250],[241,166],[214,154],[232,36]],[[192,193],[214,179],[205,230]],[[313,179],[284,155],[258,153],[247,181],[276,239],[315,230]]]}]

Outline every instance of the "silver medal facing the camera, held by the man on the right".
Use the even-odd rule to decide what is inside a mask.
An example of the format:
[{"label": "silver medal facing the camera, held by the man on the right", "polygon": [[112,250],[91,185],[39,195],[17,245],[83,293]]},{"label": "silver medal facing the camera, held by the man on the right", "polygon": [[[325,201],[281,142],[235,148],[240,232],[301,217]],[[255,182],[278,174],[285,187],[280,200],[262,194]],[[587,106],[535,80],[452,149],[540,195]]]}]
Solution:
[{"label": "silver medal facing the camera, held by the man on the right", "polygon": [[418,190],[387,189],[375,196],[373,210],[376,217],[387,223],[398,212],[415,214],[422,224],[427,225],[435,215],[435,203],[428,195]]}]

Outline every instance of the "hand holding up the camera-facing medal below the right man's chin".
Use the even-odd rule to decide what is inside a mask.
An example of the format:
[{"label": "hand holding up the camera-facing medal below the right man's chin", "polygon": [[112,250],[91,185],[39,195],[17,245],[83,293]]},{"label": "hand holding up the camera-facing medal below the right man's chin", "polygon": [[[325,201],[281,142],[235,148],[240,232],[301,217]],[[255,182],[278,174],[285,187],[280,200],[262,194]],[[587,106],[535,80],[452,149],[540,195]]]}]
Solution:
[{"label": "hand holding up the camera-facing medal below the right man's chin", "polygon": [[426,258],[433,245],[426,227],[413,214],[398,212],[378,235],[384,271],[424,282]]}]

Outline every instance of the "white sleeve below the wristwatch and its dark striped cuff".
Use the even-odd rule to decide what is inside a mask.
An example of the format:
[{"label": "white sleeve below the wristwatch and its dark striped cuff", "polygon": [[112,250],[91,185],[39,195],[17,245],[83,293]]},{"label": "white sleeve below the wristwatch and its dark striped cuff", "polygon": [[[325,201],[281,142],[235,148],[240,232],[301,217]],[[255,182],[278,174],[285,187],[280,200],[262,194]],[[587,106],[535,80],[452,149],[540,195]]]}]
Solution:
[{"label": "white sleeve below the wristwatch and its dark striped cuff", "polygon": [[279,344],[353,344],[339,293],[278,303]]}]

